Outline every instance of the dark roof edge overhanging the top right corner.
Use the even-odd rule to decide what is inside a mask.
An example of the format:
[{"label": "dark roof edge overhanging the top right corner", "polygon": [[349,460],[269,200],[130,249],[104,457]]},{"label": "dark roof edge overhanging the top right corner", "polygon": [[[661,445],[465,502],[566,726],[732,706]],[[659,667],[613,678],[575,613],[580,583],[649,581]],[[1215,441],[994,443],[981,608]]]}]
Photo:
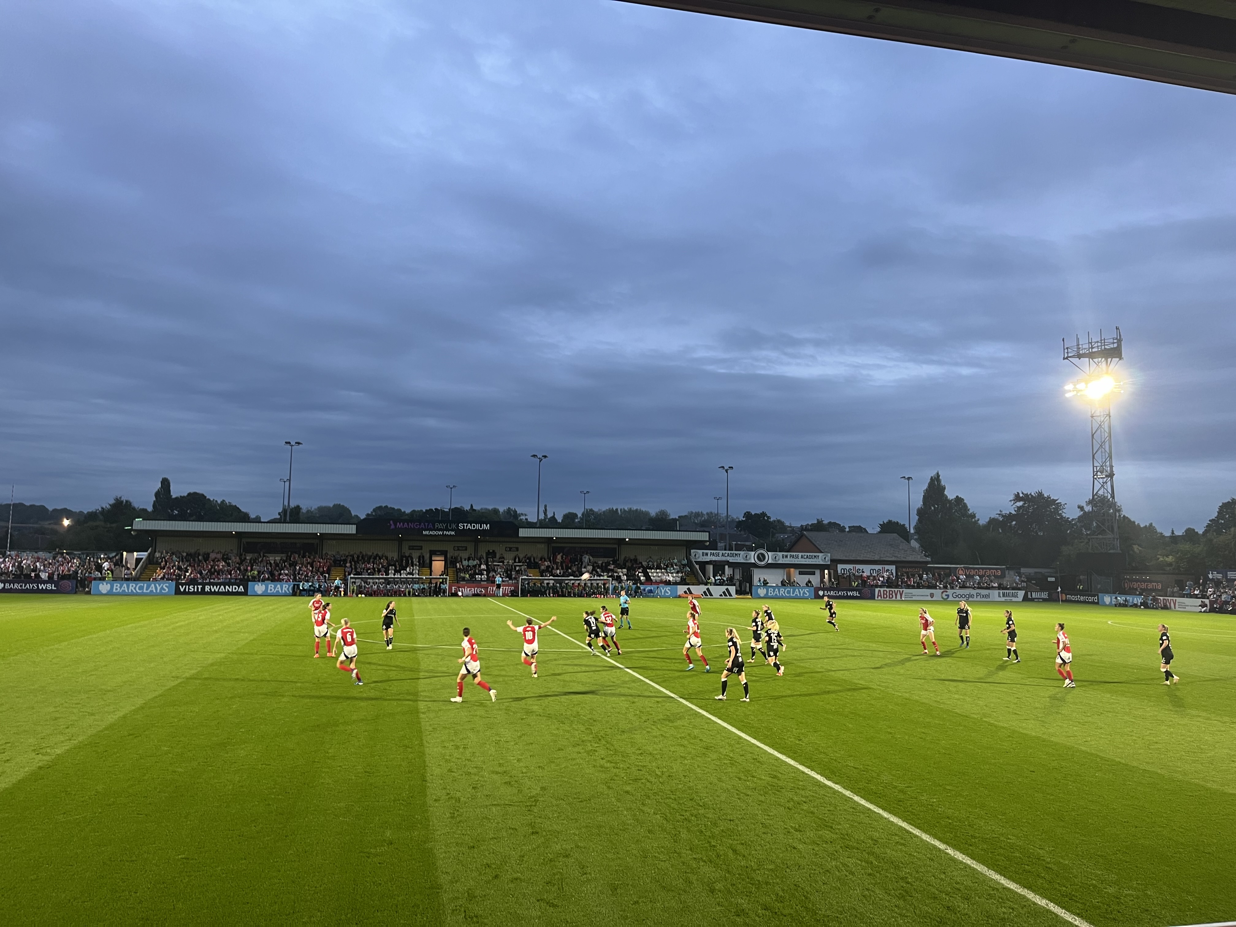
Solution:
[{"label": "dark roof edge overhanging the top right corner", "polygon": [[628,0],[1236,93],[1236,0]]}]

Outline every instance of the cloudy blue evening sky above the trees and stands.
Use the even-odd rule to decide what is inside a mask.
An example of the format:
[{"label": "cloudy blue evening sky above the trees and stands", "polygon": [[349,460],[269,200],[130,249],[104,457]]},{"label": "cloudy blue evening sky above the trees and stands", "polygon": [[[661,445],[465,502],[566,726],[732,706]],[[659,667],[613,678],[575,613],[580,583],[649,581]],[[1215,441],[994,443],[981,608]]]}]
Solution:
[{"label": "cloudy blue evening sky above the trees and stands", "polygon": [[0,6],[0,482],[143,504],[1236,494],[1236,98],[614,0]]}]

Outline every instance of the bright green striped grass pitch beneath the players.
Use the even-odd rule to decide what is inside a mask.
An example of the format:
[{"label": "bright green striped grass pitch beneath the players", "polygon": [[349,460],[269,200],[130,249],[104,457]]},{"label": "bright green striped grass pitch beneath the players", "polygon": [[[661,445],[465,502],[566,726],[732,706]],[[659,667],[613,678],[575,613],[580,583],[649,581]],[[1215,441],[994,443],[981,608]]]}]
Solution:
[{"label": "bright green striped grass pitch beneath the players", "polygon": [[[365,686],[313,659],[307,601],[0,596],[0,896],[28,923],[1058,925],[653,686],[580,599],[339,601]],[[1236,917],[1236,620],[976,606],[921,656],[915,603],[774,608],[786,674],[685,672],[682,601],[633,603],[620,662],[1093,925]],[[1154,625],[1172,625],[1178,686]],[[1052,625],[1073,639],[1060,687]],[[459,639],[482,676],[455,695]],[[744,650],[744,655],[748,651]],[[735,695],[737,690],[737,695]]]}]

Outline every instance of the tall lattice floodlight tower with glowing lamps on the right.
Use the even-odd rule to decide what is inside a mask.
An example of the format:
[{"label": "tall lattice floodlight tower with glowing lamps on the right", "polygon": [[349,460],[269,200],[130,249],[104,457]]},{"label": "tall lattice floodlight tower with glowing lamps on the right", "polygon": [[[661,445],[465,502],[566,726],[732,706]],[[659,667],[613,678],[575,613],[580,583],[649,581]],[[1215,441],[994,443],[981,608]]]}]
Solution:
[{"label": "tall lattice floodlight tower with glowing lamps on the right", "polygon": [[1085,375],[1084,379],[1065,383],[1064,394],[1077,396],[1090,403],[1090,457],[1094,476],[1090,483],[1090,510],[1098,530],[1089,536],[1090,550],[1120,552],[1120,529],[1116,523],[1116,471],[1111,456],[1111,394],[1121,384],[1112,371],[1125,358],[1125,341],[1116,326],[1115,337],[1078,335],[1069,347],[1064,339],[1064,360]]}]

